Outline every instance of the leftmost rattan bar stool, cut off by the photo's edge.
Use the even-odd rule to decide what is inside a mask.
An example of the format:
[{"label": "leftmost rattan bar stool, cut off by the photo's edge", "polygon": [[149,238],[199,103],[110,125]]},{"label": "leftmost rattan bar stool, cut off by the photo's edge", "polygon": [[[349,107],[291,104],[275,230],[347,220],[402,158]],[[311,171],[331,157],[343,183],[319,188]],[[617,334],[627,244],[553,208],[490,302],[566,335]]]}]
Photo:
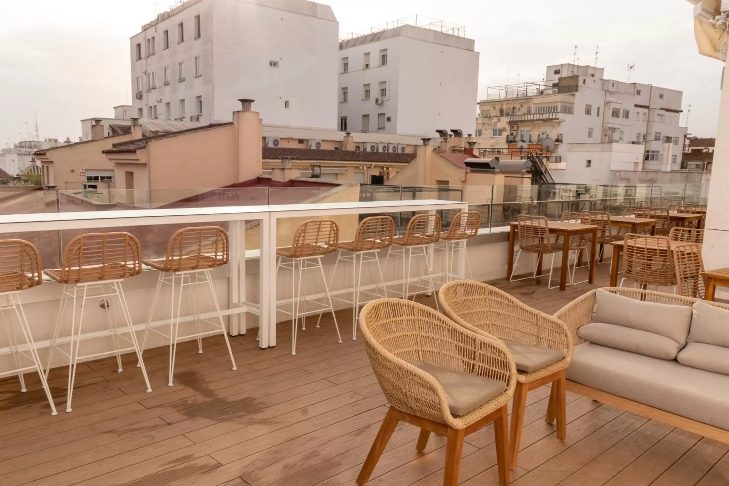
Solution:
[{"label": "leftmost rattan bar stool, cut off by the photo's edge", "polygon": [[[38,249],[25,240],[0,240],[0,320],[2,321],[8,339],[8,353],[12,354],[15,369],[0,372],[1,375],[15,375],[20,380],[20,391],[25,393],[26,380],[24,372],[35,370],[41,380],[41,386],[50,404],[50,415],[56,415],[53,397],[46,382],[41,360],[33,340],[31,326],[28,325],[23,302],[20,301],[20,292],[32,289],[42,283],[41,256]],[[6,315],[6,313],[8,315]],[[28,350],[21,350],[12,314],[15,313],[20,331]]]}]

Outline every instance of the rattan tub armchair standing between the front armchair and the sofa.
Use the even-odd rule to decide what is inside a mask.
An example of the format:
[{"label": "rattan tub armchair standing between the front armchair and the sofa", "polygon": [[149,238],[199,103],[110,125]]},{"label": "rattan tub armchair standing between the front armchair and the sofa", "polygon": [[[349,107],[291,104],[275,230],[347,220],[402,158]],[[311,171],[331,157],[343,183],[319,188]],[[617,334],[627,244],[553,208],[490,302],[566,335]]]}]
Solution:
[{"label": "rattan tub armchair standing between the front armchair and the sofa", "polygon": [[572,336],[563,322],[523,305],[518,299],[480,282],[446,283],[438,294],[443,313],[469,331],[504,342],[518,374],[511,415],[509,455],[516,467],[526,395],[552,384],[547,422],[557,420],[558,439],[566,438],[565,369],[572,358]]}]

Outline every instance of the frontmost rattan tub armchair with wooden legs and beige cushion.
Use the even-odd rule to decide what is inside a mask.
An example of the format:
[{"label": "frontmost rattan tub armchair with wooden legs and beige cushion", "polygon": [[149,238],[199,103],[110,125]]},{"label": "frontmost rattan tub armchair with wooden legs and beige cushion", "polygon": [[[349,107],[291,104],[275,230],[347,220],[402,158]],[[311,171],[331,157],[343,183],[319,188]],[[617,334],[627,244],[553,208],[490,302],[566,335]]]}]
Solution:
[{"label": "frontmost rattan tub armchair with wooden legs and beige cushion", "polygon": [[370,302],[359,315],[367,356],[390,404],[357,484],[364,485],[399,420],[448,438],[443,485],[456,486],[464,437],[494,423],[499,482],[509,483],[507,404],[516,369],[498,340],[403,299]]}]

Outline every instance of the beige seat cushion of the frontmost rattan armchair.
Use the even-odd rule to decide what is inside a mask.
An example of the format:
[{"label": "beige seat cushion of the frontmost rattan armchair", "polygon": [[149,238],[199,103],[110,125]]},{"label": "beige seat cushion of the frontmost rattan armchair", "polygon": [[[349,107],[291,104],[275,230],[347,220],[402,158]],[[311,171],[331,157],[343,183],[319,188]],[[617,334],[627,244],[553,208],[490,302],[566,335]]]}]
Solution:
[{"label": "beige seat cushion of the frontmost rattan armchair", "polygon": [[448,396],[451,415],[461,416],[477,409],[506,390],[500,381],[415,361],[413,366],[434,377]]}]

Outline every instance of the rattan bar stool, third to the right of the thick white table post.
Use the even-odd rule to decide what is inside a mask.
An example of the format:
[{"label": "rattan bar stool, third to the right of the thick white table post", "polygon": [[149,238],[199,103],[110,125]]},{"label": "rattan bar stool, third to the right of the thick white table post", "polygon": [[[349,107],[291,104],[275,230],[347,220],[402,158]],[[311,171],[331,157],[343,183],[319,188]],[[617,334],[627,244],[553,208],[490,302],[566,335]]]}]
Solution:
[{"label": "rattan bar stool, third to the right of the thick white table post", "polygon": [[[398,236],[392,239],[392,245],[385,258],[385,267],[390,255],[402,257],[402,298],[408,299],[410,295],[413,297],[417,294],[433,294],[435,297],[434,273],[432,271],[432,252],[429,248],[432,243],[437,243],[440,239],[441,221],[440,216],[435,213],[416,214],[408,222],[408,229],[405,230],[405,236]],[[405,259],[407,256],[407,264]],[[422,256],[424,260],[424,273],[418,275],[416,283],[410,283],[410,273],[413,267],[413,256]],[[423,281],[428,284],[424,285]],[[410,291],[413,286],[416,291]],[[375,289],[376,291],[377,289]],[[437,306],[438,302],[435,301]]]}]

